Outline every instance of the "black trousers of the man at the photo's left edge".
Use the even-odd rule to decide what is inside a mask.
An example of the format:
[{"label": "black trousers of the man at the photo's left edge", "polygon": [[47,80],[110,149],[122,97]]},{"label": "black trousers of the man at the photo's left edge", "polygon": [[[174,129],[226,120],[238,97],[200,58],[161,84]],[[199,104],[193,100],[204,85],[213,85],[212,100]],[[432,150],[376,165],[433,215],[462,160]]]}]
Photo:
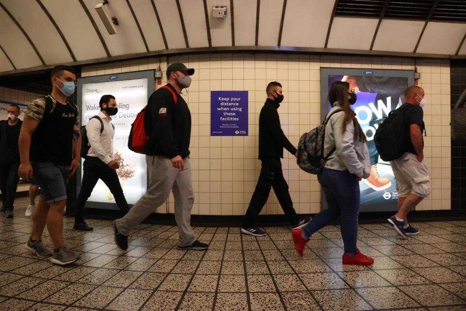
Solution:
[{"label": "black trousers of the man at the photo's left edge", "polygon": [[13,210],[19,181],[18,168],[19,163],[0,163],[1,203],[4,210]]}]

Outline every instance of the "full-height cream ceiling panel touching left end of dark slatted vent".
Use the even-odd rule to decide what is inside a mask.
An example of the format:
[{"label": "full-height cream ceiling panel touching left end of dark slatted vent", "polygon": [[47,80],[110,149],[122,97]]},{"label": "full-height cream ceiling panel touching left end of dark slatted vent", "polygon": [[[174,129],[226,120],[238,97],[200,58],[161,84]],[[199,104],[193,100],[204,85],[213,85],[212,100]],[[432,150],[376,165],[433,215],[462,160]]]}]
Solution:
[{"label": "full-height cream ceiling panel touching left end of dark slatted vent", "polygon": [[334,1],[289,0],[283,22],[283,46],[323,48]]}]

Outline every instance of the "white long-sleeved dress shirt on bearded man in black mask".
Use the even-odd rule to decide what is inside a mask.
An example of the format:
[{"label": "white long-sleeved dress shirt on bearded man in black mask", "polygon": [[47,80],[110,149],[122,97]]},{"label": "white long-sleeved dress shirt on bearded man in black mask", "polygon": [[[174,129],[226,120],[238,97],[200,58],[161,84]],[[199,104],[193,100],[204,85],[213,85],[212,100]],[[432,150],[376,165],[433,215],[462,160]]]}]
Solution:
[{"label": "white long-sleeved dress shirt on bearded man in black mask", "polygon": [[87,138],[91,147],[88,156],[97,156],[103,163],[108,164],[114,160],[113,137],[115,130],[111,124],[112,118],[100,111],[98,114],[103,122],[103,131],[100,133],[100,121],[97,118],[89,120],[86,124]]}]

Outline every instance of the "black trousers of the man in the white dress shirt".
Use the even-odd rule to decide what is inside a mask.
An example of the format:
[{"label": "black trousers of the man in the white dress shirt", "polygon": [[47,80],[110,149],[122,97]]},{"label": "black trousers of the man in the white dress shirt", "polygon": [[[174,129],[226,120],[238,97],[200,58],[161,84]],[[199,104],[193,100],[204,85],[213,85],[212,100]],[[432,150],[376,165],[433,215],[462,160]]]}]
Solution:
[{"label": "black trousers of the man in the white dress shirt", "polygon": [[76,223],[84,222],[84,204],[87,199],[91,196],[92,190],[96,186],[99,179],[101,179],[105,185],[107,185],[110,192],[115,197],[115,202],[118,208],[126,214],[129,210],[128,203],[126,202],[121,189],[120,181],[116,171],[110,168],[107,164],[100,161],[98,157],[88,156],[84,160],[83,164],[83,183],[81,184],[81,191],[76,199],[76,212],[74,215],[74,221]]}]

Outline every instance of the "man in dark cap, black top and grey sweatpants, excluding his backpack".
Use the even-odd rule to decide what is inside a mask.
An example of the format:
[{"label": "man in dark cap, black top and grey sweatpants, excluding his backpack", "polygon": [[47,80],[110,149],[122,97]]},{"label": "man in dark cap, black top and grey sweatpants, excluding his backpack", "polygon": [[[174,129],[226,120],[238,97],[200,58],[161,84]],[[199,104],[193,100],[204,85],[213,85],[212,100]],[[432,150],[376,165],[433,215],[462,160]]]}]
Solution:
[{"label": "man in dark cap, black top and grey sweatpants, excluding his backpack", "polygon": [[178,248],[203,250],[208,244],[196,240],[191,227],[191,209],[194,192],[189,163],[191,113],[180,96],[181,90],[191,84],[194,69],[174,63],[166,69],[168,84],[156,90],[146,108],[146,163],[149,185],[146,194],[130,211],[114,223],[115,243],[128,248],[131,230],[162,205],[170,191],[175,198],[175,220],[178,225]]}]

